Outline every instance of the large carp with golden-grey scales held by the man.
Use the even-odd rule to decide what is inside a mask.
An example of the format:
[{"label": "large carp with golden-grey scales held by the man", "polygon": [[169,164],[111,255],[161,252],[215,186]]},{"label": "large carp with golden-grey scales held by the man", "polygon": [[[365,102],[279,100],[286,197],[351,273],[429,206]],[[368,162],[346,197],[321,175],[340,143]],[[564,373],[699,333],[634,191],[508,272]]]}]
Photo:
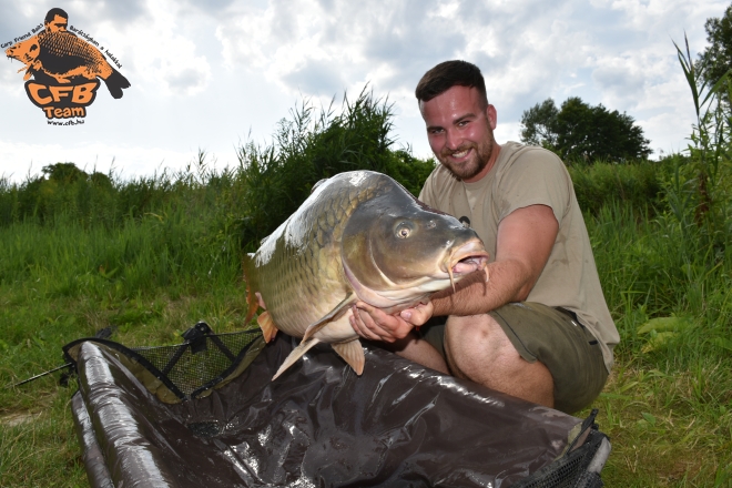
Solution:
[{"label": "large carp with golden-grey scales held by the man", "polygon": [[248,314],[265,340],[303,337],[272,379],[311,347],[329,343],[360,375],[364,350],[348,322],[358,299],[387,313],[482,268],[477,234],[428,207],[380,173],[353,171],[318,183],[277,230],[244,257]]}]

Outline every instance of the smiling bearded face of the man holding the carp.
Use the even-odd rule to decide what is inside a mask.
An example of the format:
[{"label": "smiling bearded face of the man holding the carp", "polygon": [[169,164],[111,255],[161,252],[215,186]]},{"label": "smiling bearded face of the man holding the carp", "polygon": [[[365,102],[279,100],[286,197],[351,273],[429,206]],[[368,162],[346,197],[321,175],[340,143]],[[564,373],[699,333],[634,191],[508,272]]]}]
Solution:
[{"label": "smiling bearded face of the man holding the carp", "polygon": [[482,108],[477,89],[453,87],[428,102],[419,102],[419,110],[429,146],[453,174],[470,183],[490,171],[496,109]]}]

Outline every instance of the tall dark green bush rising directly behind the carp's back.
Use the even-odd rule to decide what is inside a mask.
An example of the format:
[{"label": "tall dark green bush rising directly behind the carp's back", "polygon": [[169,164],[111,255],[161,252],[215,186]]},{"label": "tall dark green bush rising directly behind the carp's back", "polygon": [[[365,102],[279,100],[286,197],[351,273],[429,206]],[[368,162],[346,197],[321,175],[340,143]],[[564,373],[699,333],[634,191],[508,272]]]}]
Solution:
[{"label": "tall dark green bush rising directly behind the carp's back", "polygon": [[237,200],[242,243],[258,247],[307,199],[318,181],[344,171],[372,170],[394,176],[418,193],[434,163],[392,149],[392,105],[362,92],[342,112],[331,106],[317,116],[303,104],[279,122],[274,143],[240,148],[242,192]]}]

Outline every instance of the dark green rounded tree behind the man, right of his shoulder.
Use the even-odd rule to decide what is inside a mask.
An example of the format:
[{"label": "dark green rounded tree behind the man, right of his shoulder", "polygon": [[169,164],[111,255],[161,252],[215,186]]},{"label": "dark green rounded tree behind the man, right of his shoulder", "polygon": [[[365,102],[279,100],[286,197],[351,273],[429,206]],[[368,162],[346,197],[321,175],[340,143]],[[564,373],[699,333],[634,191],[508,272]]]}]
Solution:
[{"label": "dark green rounded tree behind the man, right of his shoulder", "polygon": [[558,110],[547,99],[523,112],[521,141],[555,151],[566,161],[603,159],[623,162],[651,153],[643,130],[627,113],[591,106],[572,96]]}]

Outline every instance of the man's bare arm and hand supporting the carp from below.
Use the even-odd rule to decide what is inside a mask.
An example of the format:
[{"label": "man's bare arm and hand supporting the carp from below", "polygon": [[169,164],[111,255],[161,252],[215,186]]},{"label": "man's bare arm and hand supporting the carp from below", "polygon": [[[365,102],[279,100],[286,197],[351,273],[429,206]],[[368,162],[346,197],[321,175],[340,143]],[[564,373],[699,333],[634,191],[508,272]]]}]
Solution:
[{"label": "man's bare arm and hand supporting the carp from below", "polygon": [[460,281],[455,292],[448,288],[433,295],[429,304],[394,316],[359,302],[350,324],[362,337],[392,343],[433,315],[477,315],[523,301],[539,279],[558,232],[559,223],[549,206],[518,209],[498,225],[496,261],[487,266],[488,282],[484,272],[475,273]]}]

